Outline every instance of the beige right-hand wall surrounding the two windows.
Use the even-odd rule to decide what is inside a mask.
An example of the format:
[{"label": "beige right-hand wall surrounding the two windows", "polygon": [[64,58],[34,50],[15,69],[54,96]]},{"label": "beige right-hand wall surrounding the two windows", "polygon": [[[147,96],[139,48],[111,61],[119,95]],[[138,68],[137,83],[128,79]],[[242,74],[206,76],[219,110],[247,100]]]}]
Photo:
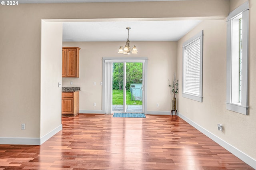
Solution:
[{"label": "beige right-hand wall surrounding the two windows", "polygon": [[[178,95],[178,111],[184,117],[256,159],[256,24],[255,1],[250,1],[249,115],[226,109],[226,21],[205,20],[178,41],[178,78],[182,85],[182,43],[204,30],[203,102]],[[187,112],[186,112],[187,109]],[[224,130],[218,131],[217,124]]]}]

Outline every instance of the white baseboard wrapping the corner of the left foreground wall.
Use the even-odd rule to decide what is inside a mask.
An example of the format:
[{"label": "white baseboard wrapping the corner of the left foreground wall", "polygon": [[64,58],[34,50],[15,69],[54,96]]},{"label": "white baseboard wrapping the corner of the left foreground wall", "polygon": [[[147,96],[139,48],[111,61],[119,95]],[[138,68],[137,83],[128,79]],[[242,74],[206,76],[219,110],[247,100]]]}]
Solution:
[{"label": "white baseboard wrapping the corner of the left foreground wall", "polygon": [[7,138],[1,137],[0,144],[26,144],[26,145],[41,145],[46,140],[54,136],[54,134],[58,133],[62,130],[62,125],[58,126],[48,134],[44,135],[42,138]]}]

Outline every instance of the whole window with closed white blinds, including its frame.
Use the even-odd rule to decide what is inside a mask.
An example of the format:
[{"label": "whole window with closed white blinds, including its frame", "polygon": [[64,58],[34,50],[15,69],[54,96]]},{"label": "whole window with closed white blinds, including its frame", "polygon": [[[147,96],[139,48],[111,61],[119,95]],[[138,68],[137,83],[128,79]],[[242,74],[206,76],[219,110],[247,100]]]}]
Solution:
[{"label": "whole window with closed white blinds, including its frame", "polygon": [[202,102],[203,31],[183,43],[182,97]]}]

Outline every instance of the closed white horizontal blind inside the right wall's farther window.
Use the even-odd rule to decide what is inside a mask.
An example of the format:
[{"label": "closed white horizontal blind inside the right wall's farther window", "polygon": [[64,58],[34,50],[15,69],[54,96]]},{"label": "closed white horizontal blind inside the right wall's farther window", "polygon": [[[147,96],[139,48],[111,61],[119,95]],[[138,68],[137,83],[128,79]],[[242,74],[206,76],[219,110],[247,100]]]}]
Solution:
[{"label": "closed white horizontal blind inside the right wall's farther window", "polygon": [[200,39],[184,47],[184,93],[200,96]]}]

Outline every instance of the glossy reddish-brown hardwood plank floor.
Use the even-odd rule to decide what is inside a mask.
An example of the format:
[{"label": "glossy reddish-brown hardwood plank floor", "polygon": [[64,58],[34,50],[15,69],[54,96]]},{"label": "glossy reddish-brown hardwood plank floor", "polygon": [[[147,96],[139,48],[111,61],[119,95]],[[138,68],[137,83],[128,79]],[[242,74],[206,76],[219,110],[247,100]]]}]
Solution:
[{"label": "glossy reddish-brown hardwood plank floor", "polygon": [[179,117],[62,117],[41,146],[0,145],[0,170],[253,170]]}]

